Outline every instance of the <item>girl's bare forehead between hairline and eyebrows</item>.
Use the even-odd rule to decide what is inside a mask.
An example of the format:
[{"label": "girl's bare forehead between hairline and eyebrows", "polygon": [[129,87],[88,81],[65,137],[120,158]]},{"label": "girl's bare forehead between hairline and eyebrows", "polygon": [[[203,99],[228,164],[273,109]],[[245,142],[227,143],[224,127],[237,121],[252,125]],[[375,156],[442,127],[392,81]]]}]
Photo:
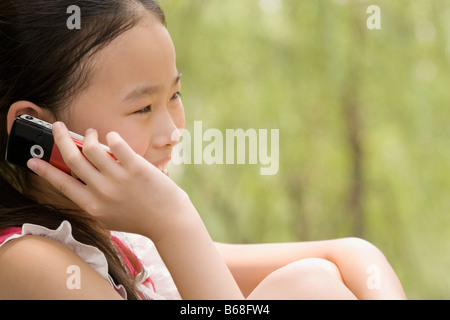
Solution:
[{"label": "girl's bare forehead between hairline and eyebrows", "polygon": [[149,15],[96,54],[90,89],[123,94],[140,86],[173,82],[177,74],[170,35],[161,22]]}]

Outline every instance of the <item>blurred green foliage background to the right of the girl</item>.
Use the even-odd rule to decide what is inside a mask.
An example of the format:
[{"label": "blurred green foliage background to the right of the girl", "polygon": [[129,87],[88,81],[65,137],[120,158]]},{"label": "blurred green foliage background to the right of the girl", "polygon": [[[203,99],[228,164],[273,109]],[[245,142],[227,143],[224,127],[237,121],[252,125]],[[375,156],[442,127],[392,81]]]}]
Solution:
[{"label": "blurred green foliage background to the right of the girl", "polygon": [[[450,1],[160,0],[186,128],[280,130],[280,169],[172,176],[216,241],[361,237],[450,298]],[[381,29],[366,21],[381,10]]]}]

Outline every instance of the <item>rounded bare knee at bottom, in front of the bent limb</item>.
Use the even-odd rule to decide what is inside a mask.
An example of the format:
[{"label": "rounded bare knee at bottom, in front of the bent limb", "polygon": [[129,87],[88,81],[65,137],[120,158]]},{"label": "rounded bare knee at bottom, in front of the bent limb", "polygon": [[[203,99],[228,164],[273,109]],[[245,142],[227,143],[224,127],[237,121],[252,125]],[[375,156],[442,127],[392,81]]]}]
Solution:
[{"label": "rounded bare knee at bottom, in front of the bent limb", "polygon": [[323,259],[304,259],[271,273],[247,299],[341,300],[355,298],[344,285],[336,265]]}]

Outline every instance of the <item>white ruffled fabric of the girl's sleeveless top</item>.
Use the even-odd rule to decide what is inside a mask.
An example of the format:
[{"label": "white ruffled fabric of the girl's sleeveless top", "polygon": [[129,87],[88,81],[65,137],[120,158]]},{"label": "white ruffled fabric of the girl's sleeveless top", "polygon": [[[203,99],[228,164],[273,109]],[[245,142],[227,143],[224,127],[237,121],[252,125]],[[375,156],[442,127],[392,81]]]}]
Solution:
[{"label": "white ruffled fabric of the girl's sleeveless top", "polygon": [[[124,298],[127,294],[122,285],[114,283],[108,274],[108,262],[106,257],[98,248],[83,244],[72,236],[72,226],[64,221],[56,230],[34,224],[24,224],[21,234],[12,234],[0,242],[0,247],[5,243],[26,236],[34,235],[46,237],[66,245],[74,251],[103,278],[116,288],[117,292]],[[166,268],[153,242],[137,234],[112,232],[112,236],[121,240],[141,261],[142,272],[137,276],[137,290],[144,299],[151,300],[180,300],[180,294],[172,280],[169,270]],[[146,281],[148,278],[151,281]]]}]

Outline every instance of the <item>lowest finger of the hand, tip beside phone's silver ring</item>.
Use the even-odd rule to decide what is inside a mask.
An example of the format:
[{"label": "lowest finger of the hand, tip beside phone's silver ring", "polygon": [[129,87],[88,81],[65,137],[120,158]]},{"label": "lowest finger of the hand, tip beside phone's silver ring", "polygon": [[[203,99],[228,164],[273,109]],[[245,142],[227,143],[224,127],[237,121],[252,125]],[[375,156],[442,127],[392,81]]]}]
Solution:
[{"label": "lowest finger of the hand, tip beside phone's silver ring", "polygon": [[64,194],[80,207],[89,202],[87,187],[77,179],[53,167],[50,163],[32,158],[27,162],[28,168],[47,180],[56,190]]}]

